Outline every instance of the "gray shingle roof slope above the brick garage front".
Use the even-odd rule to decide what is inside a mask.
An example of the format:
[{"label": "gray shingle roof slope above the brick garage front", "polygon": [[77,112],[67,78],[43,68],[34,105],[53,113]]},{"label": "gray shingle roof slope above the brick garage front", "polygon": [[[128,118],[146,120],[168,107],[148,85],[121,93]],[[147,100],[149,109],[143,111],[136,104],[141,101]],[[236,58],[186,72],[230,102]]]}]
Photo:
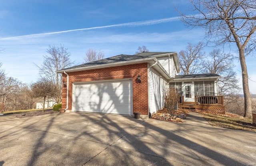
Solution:
[{"label": "gray shingle roof slope above the brick garage front", "polygon": [[89,62],[86,64],[72,66],[70,68],[65,68],[63,70],[73,69],[73,68],[81,68],[81,67],[87,67],[87,66],[94,66],[94,65],[100,65],[100,64],[109,64],[109,63],[114,63],[114,62],[123,62],[123,61],[143,59],[143,58],[148,58],[148,56],[133,56],[133,55],[120,54],[117,56],[112,56],[110,58],[105,58],[105,59],[101,59],[101,60],[96,60],[94,62]]}]

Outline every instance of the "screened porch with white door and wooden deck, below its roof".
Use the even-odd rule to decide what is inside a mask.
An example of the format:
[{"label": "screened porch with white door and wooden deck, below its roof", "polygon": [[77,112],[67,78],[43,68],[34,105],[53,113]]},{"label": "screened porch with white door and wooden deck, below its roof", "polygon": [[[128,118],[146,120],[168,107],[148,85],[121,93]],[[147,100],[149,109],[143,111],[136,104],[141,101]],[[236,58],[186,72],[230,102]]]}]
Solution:
[{"label": "screened porch with white door and wooden deck, below its roof", "polygon": [[214,80],[171,82],[180,95],[179,108],[223,113],[224,97],[218,95],[218,85]]}]

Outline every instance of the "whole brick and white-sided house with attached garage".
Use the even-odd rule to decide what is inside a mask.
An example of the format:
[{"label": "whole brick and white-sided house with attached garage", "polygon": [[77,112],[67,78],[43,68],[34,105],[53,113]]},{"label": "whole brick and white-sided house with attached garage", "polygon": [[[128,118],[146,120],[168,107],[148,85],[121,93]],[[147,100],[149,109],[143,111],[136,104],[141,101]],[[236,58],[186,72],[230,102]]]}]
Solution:
[{"label": "whole brick and white-sided house with attached garage", "polygon": [[63,76],[62,108],[124,115],[140,112],[148,117],[164,108],[168,88],[182,92],[182,105],[218,94],[217,74],[179,76],[179,72],[177,52],[121,54],[58,70]]}]

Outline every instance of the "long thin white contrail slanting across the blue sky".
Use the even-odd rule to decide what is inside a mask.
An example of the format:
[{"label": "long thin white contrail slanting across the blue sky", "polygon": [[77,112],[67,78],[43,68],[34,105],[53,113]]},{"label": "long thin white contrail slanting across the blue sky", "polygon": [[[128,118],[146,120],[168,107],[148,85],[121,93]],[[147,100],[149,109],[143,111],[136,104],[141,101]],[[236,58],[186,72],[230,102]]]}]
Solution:
[{"label": "long thin white contrail slanting across the blue sky", "polygon": [[172,21],[178,20],[178,18],[179,17],[170,17],[170,18],[162,18],[162,19],[156,19],[156,20],[146,20],[146,21],[114,24],[114,25],[107,25],[107,26],[96,26],[96,27],[91,27],[91,28],[64,30],[64,31],[58,31],[58,32],[48,32],[48,33],[40,33],[40,34],[28,34],[28,35],[23,35],[23,36],[14,36],[14,37],[8,37],[8,38],[1,38],[0,40],[13,39],[13,38],[22,38],[22,37],[29,37],[29,36],[61,34],[61,33],[66,33],[66,32],[74,32],[74,31],[82,31],[82,30],[93,30],[93,29],[101,29],[101,28],[111,28],[111,27],[118,27],[118,26],[147,26],[147,25],[160,24],[160,23],[164,23],[164,22],[172,22]]}]

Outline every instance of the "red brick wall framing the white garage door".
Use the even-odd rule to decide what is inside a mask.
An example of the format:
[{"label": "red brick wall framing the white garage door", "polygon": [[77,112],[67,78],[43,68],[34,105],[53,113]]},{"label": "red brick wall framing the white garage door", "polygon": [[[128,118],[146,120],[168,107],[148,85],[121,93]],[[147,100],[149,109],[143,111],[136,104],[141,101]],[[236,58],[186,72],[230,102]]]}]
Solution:
[{"label": "red brick wall framing the white garage door", "polygon": [[[141,112],[148,115],[148,64],[133,64],[79,72],[68,72],[69,92],[68,110],[72,109],[72,83],[88,82],[98,80],[115,80],[132,78],[133,112]],[[138,83],[137,76],[140,75],[141,83]],[[67,75],[62,74],[63,81],[67,83]],[[62,87],[62,108],[66,108],[67,88]]]}]

